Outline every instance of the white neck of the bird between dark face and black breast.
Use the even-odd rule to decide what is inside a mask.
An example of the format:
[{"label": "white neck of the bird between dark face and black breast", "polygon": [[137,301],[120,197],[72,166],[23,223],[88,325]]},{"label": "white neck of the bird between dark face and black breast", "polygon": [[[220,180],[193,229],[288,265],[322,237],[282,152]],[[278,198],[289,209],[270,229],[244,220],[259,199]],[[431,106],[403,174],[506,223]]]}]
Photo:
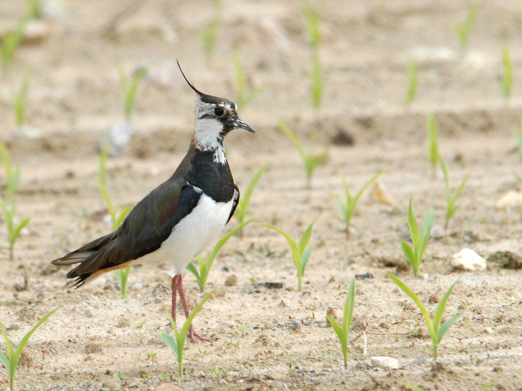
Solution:
[{"label": "white neck of the bird between dark face and black breast", "polygon": [[220,121],[210,118],[196,119],[193,142],[196,150],[213,152],[214,161],[221,164],[227,163],[223,148],[223,125]]}]

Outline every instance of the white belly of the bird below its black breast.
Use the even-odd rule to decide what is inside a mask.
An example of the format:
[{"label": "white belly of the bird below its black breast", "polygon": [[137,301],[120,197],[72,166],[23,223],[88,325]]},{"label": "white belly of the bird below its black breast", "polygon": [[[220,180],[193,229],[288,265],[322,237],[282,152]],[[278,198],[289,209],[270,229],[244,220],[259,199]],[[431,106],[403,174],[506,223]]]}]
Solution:
[{"label": "white belly of the bird below its black breast", "polygon": [[201,194],[192,212],[176,224],[161,247],[136,260],[136,263],[173,262],[174,273],[183,274],[196,254],[206,250],[227,224],[233,201],[215,202]]}]

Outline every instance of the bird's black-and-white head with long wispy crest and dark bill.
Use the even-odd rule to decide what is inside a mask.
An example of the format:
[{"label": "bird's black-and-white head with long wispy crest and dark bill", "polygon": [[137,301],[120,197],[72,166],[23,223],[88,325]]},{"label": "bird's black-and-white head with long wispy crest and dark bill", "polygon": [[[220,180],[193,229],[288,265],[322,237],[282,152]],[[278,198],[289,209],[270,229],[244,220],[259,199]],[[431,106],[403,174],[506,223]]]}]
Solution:
[{"label": "bird's black-and-white head with long wispy crest and dark bill", "polygon": [[177,66],[189,87],[198,94],[195,128],[198,145],[215,150],[223,145],[223,138],[234,128],[243,128],[255,133],[254,128],[239,118],[238,105],[228,99],[200,92],[187,80],[179,62]]}]

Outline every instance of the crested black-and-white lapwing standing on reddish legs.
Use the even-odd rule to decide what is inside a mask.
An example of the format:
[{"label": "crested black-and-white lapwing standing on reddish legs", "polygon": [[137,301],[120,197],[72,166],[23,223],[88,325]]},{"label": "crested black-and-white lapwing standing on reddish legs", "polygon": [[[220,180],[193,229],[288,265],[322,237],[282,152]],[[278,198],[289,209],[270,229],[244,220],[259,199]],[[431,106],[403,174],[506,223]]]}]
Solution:
[{"label": "crested black-and-white lapwing standing on reddish legs", "polygon": [[[79,288],[100,275],[136,264],[171,262],[172,317],[176,292],[189,316],[183,272],[194,256],[207,249],[230,221],[239,202],[223,139],[236,128],[255,133],[238,116],[238,106],[207,95],[181,75],[197,94],[195,127],[188,151],[174,174],[139,201],[118,229],[53,260],[53,265],[76,265],[66,274],[68,285]],[[209,340],[189,328],[192,341]]]}]

